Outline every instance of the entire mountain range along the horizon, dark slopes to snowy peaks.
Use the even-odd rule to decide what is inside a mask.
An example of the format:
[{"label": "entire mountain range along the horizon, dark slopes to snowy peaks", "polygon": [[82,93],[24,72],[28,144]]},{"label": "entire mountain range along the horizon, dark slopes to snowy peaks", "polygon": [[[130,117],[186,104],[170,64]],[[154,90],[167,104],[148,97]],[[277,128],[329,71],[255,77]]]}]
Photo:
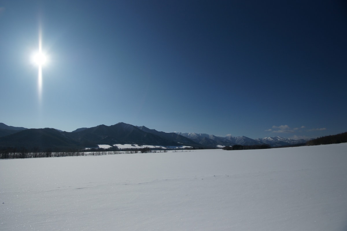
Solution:
[{"label": "entire mountain range along the horizon, dark slopes to snowy peaks", "polygon": [[27,148],[84,149],[97,148],[100,144],[138,144],[158,146],[192,146],[193,148],[221,148],[223,146],[297,145],[307,140],[292,140],[283,137],[251,139],[246,136],[220,137],[209,134],[159,132],[145,126],[117,123],[106,126],[78,128],[64,132],[54,128],[32,128],[8,126],[0,123],[0,146],[25,146]]}]

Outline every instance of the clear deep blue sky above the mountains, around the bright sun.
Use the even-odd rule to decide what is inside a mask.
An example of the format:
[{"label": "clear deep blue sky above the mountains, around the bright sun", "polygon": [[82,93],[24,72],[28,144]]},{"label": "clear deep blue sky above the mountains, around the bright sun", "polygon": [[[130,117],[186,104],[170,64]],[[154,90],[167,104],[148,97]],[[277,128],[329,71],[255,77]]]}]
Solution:
[{"label": "clear deep blue sky above the mountains, around the bright sun", "polygon": [[346,132],[346,41],[343,1],[0,1],[0,122]]}]

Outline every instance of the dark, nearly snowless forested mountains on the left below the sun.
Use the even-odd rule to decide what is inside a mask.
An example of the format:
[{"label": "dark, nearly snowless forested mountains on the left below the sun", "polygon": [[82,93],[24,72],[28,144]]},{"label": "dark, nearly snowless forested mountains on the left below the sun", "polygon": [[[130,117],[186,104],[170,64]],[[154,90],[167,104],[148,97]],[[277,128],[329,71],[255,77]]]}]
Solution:
[{"label": "dark, nearly snowless forested mountains on the left below the sun", "polygon": [[[176,137],[169,137],[169,134],[153,134],[125,123],[118,123],[112,126],[99,125],[79,129],[74,132],[60,132],[54,128],[33,128],[0,137],[0,145],[25,146],[29,149],[40,147],[43,149],[68,150],[98,148],[99,144],[111,146],[114,144],[180,146],[189,143],[202,148],[202,145],[185,137],[177,136],[175,133],[172,134]],[[184,143],[180,141],[184,141]]]}]

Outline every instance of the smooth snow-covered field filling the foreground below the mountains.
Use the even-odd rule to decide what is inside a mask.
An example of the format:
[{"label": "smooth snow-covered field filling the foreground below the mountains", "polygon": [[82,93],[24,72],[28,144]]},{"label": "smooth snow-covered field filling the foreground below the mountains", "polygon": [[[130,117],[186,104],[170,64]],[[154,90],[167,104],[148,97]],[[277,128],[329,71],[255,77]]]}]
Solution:
[{"label": "smooth snow-covered field filling the foreground below the mountains", "polygon": [[347,230],[347,143],[0,160],[0,230]]}]

